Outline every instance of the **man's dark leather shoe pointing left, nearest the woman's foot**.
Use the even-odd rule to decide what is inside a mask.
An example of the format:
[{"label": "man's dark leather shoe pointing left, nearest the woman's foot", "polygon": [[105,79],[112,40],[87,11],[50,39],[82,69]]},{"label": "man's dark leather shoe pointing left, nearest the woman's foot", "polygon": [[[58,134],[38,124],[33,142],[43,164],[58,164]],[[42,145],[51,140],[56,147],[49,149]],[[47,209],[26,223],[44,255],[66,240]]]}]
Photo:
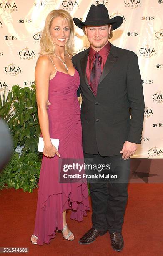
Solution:
[{"label": "man's dark leather shoe pointing left, nearest the woman's foot", "polygon": [[106,233],[107,233],[107,230],[106,231],[99,231],[95,228],[90,228],[90,230],[88,230],[87,233],[85,233],[85,235],[82,236],[82,238],[80,238],[79,243],[80,244],[93,243],[98,236],[103,236]]}]

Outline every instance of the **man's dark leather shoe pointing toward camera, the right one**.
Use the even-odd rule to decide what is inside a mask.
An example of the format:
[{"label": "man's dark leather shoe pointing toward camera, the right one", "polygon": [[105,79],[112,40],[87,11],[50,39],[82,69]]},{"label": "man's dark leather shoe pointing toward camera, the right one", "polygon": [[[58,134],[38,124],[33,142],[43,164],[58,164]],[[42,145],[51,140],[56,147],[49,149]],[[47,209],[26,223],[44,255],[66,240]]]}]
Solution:
[{"label": "man's dark leather shoe pointing toward camera, the right one", "polygon": [[120,232],[110,234],[111,245],[115,251],[122,251],[124,246],[123,236]]}]

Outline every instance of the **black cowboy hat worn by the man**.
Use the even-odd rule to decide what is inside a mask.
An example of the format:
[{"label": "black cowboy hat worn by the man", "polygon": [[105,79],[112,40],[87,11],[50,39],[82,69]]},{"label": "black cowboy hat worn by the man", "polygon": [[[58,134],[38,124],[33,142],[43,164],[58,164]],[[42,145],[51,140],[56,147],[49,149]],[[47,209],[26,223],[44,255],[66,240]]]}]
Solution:
[{"label": "black cowboy hat worn by the man", "polygon": [[116,16],[110,20],[108,10],[103,4],[91,5],[90,10],[87,14],[85,22],[82,22],[78,18],[73,18],[76,26],[83,28],[86,25],[89,26],[102,26],[106,24],[111,24],[112,29],[118,28],[123,23],[123,18]]}]

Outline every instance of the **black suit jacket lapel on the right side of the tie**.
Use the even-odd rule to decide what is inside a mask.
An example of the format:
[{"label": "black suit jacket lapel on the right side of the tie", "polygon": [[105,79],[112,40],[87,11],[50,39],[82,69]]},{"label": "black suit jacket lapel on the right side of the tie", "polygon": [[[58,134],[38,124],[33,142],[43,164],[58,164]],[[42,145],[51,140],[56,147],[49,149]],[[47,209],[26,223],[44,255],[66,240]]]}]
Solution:
[{"label": "black suit jacket lapel on the right side of the tie", "polygon": [[[118,60],[117,51],[115,49],[115,46],[113,46],[113,44],[111,44],[110,53],[108,55],[103,72],[101,74],[100,82],[102,82],[103,79],[106,77],[106,75],[109,74],[110,70],[113,68],[113,66],[115,65],[117,60]],[[100,82],[99,82],[99,84],[100,84]]]}]

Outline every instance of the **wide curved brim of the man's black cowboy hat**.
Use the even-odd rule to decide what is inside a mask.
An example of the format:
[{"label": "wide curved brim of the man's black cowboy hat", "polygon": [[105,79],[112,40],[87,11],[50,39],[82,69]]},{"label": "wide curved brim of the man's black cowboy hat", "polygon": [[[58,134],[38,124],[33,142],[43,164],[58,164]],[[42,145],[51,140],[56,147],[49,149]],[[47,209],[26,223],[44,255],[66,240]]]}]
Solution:
[{"label": "wide curved brim of the man's black cowboy hat", "polygon": [[103,26],[107,24],[112,25],[112,29],[115,30],[120,27],[120,25],[123,23],[123,18],[121,16],[116,16],[112,18],[111,20],[89,20],[88,22],[82,22],[78,18],[73,18],[73,21],[75,25],[81,29],[83,29],[84,26]]}]

